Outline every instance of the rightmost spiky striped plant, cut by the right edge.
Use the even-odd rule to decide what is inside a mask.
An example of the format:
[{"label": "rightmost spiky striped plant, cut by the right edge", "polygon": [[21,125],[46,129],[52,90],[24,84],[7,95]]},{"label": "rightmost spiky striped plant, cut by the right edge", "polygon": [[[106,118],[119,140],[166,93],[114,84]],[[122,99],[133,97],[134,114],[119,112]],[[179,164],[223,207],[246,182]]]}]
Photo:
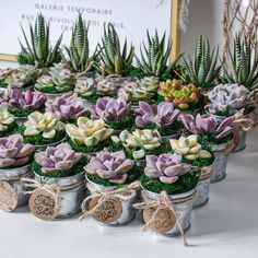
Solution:
[{"label": "rightmost spiky striped plant, cut by the right edge", "polygon": [[233,42],[233,51],[228,50],[228,67],[223,64],[223,83],[242,84],[250,92],[258,90],[258,52],[248,38],[237,34]]}]

